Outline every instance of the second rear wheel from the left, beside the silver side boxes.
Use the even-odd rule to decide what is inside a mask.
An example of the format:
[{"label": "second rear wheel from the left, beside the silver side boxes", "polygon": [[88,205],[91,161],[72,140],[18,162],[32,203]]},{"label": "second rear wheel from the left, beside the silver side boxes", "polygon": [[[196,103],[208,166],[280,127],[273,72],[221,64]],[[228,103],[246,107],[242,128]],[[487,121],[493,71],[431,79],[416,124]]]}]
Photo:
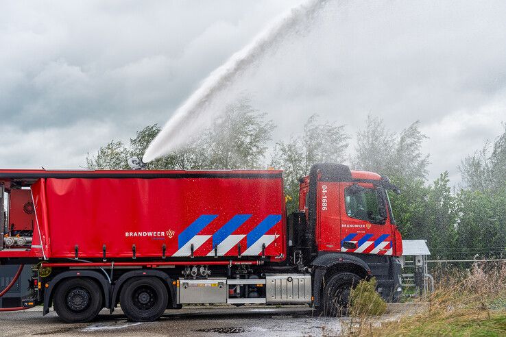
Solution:
[{"label": "second rear wheel from the left, beside the silver side boxes", "polygon": [[150,322],[162,316],[169,303],[167,288],[156,277],[133,277],[125,282],[119,297],[128,319]]}]

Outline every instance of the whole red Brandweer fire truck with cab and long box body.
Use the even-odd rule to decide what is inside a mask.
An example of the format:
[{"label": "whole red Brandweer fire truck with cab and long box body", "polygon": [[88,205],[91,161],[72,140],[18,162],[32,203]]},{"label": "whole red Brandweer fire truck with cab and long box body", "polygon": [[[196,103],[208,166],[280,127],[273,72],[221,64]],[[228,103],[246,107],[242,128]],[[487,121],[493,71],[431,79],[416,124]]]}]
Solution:
[{"label": "whole red Brandweer fire truck with cab and long box body", "polygon": [[85,322],[121,304],[153,321],[189,303],[308,303],[333,316],[369,277],[400,296],[398,189],[376,173],[316,164],[289,215],[282,171],[0,170],[0,189],[0,264],[34,271],[33,296],[7,310]]}]

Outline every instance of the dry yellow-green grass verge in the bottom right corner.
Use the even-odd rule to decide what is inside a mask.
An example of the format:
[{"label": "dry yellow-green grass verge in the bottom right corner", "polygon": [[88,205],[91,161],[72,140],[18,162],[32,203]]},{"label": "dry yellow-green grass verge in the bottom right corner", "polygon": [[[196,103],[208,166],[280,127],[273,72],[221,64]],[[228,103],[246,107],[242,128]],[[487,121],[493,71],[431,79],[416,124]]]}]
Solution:
[{"label": "dry yellow-green grass verge in the bottom right corner", "polygon": [[[372,316],[346,326],[350,336],[506,336],[506,264],[448,271],[428,308],[385,321]],[[417,302],[415,302],[417,303]]]}]

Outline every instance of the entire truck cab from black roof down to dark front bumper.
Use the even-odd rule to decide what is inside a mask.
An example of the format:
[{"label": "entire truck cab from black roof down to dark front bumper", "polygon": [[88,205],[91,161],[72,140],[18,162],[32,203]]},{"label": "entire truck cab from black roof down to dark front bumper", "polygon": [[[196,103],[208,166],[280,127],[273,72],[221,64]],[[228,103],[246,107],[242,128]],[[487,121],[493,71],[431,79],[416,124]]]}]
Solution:
[{"label": "entire truck cab from black roof down to dark front bumper", "polygon": [[[289,217],[289,226],[294,227],[289,233],[295,233],[293,246],[314,267],[313,292],[322,291],[325,278],[329,282],[350,273],[375,277],[378,292],[388,301],[398,301],[402,238],[388,191],[400,192],[387,177],[351,171],[342,164],[315,164],[300,179],[299,208]],[[357,279],[345,281],[344,287],[352,287]],[[330,296],[319,295],[315,306]]]}]

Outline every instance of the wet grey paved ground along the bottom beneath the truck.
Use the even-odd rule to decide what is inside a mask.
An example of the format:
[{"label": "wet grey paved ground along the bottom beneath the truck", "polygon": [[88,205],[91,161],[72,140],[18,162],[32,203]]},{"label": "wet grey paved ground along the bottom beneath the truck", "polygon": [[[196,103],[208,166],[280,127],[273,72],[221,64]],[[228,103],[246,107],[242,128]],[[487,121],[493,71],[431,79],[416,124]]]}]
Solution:
[{"label": "wet grey paved ground along the bottom beneath the truck", "polygon": [[1,336],[335,336],[339,319],[313,317],[307,306],[198,307],[167,310],[151,323],[129,322],[121,312],[101,312],[91,323],[65,324],[41,308],[0,314]]}]

